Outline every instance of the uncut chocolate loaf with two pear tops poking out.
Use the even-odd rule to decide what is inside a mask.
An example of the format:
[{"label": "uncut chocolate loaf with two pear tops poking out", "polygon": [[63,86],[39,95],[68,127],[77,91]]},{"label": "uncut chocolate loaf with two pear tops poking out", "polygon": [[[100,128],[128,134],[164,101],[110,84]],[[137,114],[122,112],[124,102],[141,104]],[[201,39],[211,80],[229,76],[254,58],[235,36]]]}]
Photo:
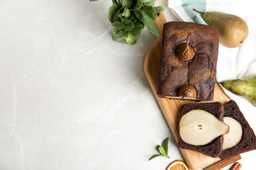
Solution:
[{"label": "uncut chocolate loaf with two pear tops poking out", "polygon": [[164,24],[158,95],[213,100],[218,51],[219,31],[214,27],[190,22]]}]

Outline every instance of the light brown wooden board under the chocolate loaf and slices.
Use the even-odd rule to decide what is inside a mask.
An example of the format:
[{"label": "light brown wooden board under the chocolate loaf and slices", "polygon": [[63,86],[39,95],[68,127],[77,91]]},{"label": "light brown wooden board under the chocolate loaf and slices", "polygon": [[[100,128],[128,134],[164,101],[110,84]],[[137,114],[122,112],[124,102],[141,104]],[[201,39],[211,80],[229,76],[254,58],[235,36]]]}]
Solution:
[{"label": "light brown wooden board under the chocolate loaf and slices", "polygon": [[[165,99],[158,97],[157,89],[158,89],[158,73],[159,73],[159,65],[160,65],[160,56],[161,56],[161,42],[163,35],[163,24],[165,24],[166,19],[163,12],[158,14],[158,18],[154,21],[156,27],[158,27],[158,31],[160,35],[156,38],[156,42],[150,48],[148,54],[146,55],[144,61],[144,72],[146,77],[148,78],[148,82],[156,96],[156,99],[161,107],[161,110],[165,116],[167,124],[169,125],[173,136],[177,141],[178,137],[178,124],[179,124],[179,112],[181,111],[182,105],[185,103],[196,103],[196,101],[188,101],[188,100],[179,100],[179,99]],[[215,92],[213,101],[219,101],[221,103],[226,103],[230,99],[223,92],[221,86],[219,84],[215,84]],[[198,103],[198,102],[197,102]],[[211,158],[199,152],[195,152],[192,150],[181,149],[182,156],[184,160],[188,164],[190,169],[200,169],[205,167],[215,161],[219,161],[220,158]]]}]

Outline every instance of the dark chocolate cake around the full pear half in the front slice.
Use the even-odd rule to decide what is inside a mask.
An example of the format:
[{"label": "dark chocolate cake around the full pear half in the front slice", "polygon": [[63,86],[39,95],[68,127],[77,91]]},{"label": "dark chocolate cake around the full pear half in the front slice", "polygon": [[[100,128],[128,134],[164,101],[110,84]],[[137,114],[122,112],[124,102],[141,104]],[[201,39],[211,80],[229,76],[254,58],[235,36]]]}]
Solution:
[{"label": "dark chocolate cake around the full pear half in the front slice", "polygon": [[[219,118],[219,120],[223,121],[223,115],[224,115],[224,107],[219,102],[214,103],[188,103],[182,106],[181,109],[181,116],[179,118],[179,121],[181,120],[181,117],[189,112],[190,110],[195,109],[201,109],[205,110],[207,112],[210,112],[215,117]],[[179,128],[178,128],[179,129]],[[219,157],[223,150],[223,135],[220,137],[217,137],[211,143],[205,144],[202,146],[194,146],[192,144],[185,143],[182,141],[180,137],[180,133],[178,135],[178,146],[179,148],[189,149],[201,152],[202,154],[205,154],[207,156],[211,156],[213,158]]]}]

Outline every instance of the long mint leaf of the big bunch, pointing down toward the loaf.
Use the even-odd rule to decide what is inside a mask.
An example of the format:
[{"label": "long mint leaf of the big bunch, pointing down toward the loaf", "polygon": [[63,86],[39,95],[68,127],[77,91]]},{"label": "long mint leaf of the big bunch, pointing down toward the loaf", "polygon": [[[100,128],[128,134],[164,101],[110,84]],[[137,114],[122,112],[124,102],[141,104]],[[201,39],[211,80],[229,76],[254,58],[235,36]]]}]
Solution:
[{"label": "long mint leaf of the big bunch, pointing down toward the loaf", "polygon": [[156,36],[159,35],[158,28],[144,10],[134,10],[134,12],[137,18],[139,18],[139,20],[146,25],[151,33]]}]

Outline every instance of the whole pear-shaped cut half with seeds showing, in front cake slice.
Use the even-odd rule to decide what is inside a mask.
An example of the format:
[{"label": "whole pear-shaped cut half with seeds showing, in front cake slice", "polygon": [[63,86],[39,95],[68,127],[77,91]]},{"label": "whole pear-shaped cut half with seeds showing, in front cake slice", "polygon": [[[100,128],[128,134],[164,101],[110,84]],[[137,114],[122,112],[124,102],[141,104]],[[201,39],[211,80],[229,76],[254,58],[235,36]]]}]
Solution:
[{"label": "whole pear-shaped cut half with seeds showing, in front cake slice", "polygon": [[229,126],[205,110],[191,110],[184,114],[179,123],[182,141],[200,146],[228,133]]}]

